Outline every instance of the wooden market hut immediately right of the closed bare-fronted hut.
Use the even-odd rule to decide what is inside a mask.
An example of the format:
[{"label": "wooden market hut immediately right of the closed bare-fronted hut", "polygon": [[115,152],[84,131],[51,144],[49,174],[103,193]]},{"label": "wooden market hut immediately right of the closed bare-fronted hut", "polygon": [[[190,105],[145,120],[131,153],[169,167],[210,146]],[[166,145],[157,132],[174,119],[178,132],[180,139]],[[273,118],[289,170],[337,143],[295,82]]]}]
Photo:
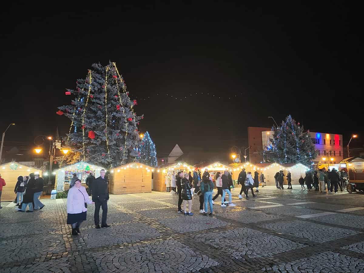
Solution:
[{"label": "wooden market hut immediately right of the closed bare-fronted hut", "polygon": [[173,171],[175,171],[176,174],[179,171],[188,173],[189,171],[193,172],[194,169],[194,166],[191,166],[184,161],[171,162],[159,165],[158,168],[154,170],[153,174],[153,190],[166,191],[166,179],[169,179],[171,177]]}]

